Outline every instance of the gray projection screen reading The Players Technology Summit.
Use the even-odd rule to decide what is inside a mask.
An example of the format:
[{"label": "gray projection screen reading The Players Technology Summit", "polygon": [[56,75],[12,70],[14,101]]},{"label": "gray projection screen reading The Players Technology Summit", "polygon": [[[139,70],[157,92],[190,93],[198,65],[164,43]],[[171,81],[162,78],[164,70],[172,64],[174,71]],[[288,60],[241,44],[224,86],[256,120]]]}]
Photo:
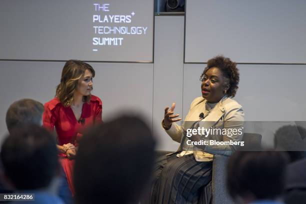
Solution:
[{"label": "gray projection screen reading The Players Technology Summit", "polygon": [[153,61],[153,0],[2,0],[0,59]]}]

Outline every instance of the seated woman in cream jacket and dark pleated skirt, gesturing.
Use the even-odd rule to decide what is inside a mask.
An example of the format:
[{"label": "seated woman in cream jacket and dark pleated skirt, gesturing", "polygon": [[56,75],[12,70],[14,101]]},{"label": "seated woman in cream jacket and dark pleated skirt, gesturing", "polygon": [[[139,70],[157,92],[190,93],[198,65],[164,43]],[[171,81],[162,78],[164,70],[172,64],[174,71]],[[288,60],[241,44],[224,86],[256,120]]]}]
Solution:
[{"label": "seated woman in cream jacket and dark pleated skirt, gesturing", "polygon": [[[232,99],[239,82],[236,63],[224,56],[211,58],[200,80],[202,96],[191,102],[182,125],[176,123],[181,118],[174,114],[175,103],[164,110],[162,127],[180,145],[157,159],[150,203],[197,203],[199,188],[211,180],[213,154],[230,155],[241,144],[244,113]],[[206,131],[190,136],[190,129]],[[202,144],[193,145],[198,141]]]}]

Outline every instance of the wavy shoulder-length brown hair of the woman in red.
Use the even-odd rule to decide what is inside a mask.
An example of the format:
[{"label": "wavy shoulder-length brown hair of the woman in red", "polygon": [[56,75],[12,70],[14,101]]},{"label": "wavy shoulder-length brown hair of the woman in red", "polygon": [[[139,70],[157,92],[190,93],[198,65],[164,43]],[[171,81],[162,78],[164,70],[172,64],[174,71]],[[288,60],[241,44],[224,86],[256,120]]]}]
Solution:
[{"label": "wavy shoulder-length brown hair of the woman in red", "polygon": [[[73,93],[77,87],[78,80],[84,75],[88,69],[94,77],[94,69],[86,62],[70,59],[66,61],[61,71],[60,83],[56,87],[55,97],[64,106],[69,106],[73,100]],[[83,101],[89,102],[91,95],[84,95]]]}]

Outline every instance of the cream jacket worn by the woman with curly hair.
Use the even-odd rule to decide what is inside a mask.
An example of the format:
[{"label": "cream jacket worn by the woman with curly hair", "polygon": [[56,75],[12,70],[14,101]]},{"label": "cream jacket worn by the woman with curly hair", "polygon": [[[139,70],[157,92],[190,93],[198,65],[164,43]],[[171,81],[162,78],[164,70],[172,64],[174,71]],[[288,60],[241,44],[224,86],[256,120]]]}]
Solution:
[{"label": "cream jacket worn by the woman with curly hair", "polygon": [[[203,122],[200,122],[200,127],[204,128],[241,128],[243,129],[244,113],[242,106],[233,100],[230,97],[224,96],[211,110],[207,105],[207,100],[203,97],[196,97],[190,105],[188,114],[185,117],[182,125],[178,125],[176,122],[173,122],[171,127],[168,130],[165,130],[167,134],[181,145],[178,147],[177,156],[183,156],[190,153],[193,153],[194,158],[197,161],[209,161],[212,160],[212,154],[223,154],[230,155],[232,151],[236,149],[236,146],[233,145],[205,145],[204,149],[193,150],[193,151],[182,151],[182,142],[185,141],[186,135],[184,134],[182,126],[185,126],[185,123],[188,121],[197,121],[199,120],[199,114],[204,113]],[[206,122],[205,122],[206,121]],[[209,122],[208,122],[209,121]],[[234,122],[233,122],[234,121]],[[189,122],[191,123],[191,122]],[[211,135],[211,139],[217,141],[241,141],[243,134],[228,136],[224,135]]]}]

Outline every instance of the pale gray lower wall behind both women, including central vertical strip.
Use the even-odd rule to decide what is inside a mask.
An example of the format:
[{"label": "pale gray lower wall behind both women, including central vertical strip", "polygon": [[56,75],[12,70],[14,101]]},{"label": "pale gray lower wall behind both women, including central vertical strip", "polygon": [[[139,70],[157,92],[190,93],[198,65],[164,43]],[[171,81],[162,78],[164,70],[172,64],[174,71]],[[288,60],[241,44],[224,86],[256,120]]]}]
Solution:
[{"label": "pale gray lower wall behind both women, including central vertical strip", "polygon": [[[183,26],[183,16],[155,17],[154,63],[90,63],[96,70],[93,94],[103,100],[104,120],[122,109],[141,112],[159,138],[158,149],[178,146],[161,130],[164,107],[176,102],[176,112],[185,116],[192,99],[201,94],[199,75],[205,64],[183,64]],[[0,138],[7,132],[9,104],[24,97],[51,99],[62,66],[63,62],[0,61]],[[241,80],[235,99],[243,105],[246,120],[306,120],[306,65],[238,67]]]}]

